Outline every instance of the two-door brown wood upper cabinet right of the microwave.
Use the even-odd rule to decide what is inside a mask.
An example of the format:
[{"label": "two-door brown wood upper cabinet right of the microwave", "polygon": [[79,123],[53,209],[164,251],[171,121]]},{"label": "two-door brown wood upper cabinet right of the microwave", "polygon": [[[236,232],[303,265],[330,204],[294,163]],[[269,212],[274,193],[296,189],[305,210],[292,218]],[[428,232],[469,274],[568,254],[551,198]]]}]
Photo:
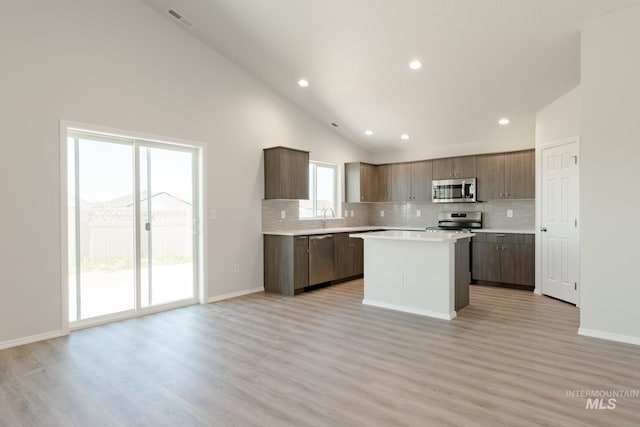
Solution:
[{"label": "two-door brown wood upper cabinet right of the microwave", "polygon": [[477,156],[479,201],[535,198],[535,151]]}]

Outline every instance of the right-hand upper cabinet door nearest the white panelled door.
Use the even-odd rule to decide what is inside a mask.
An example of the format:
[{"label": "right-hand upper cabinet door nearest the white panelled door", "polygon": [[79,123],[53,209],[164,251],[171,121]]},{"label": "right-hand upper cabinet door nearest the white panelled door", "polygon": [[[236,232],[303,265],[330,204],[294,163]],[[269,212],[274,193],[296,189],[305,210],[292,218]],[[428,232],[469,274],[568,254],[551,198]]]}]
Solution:
[{"label": "right-hand upper cabinet door nearest the white panelled door", "polygon": [[505,155],[505,198],[533,199],[536,196],[535,151]]}]

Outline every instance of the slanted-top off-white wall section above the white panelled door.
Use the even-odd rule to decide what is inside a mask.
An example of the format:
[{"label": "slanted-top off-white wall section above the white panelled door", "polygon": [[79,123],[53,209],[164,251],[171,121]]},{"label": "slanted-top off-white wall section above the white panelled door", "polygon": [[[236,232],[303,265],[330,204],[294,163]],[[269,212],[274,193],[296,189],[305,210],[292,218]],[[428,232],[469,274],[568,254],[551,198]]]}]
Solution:
[{"label": "slanted-top off-white wall section above the white panelled door", "polygon": [[580,86],[570,90],[536,114],[536,147],[580,134]]}]

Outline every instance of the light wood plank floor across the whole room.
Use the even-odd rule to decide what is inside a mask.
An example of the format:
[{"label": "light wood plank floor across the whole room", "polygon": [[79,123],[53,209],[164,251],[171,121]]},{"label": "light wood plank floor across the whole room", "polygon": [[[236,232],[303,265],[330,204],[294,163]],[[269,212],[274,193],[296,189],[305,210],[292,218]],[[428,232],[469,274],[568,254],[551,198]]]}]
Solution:
[{"label": "light wood plank floor across the whole room", "polygon": [[254,294],[0,352],[1,426],[638,426],[640,348],[578,310],[474,286],[447,322],[361,305],[362,281]]}]

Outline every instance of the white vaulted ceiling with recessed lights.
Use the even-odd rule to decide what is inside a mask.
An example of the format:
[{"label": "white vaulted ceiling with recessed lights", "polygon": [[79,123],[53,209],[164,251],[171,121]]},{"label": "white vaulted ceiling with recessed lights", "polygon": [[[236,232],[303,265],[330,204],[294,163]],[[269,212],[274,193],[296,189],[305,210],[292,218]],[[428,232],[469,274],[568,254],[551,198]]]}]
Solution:
[{"label": "white vaulted ceiling with recessed lights", "polygon": [[581,24],[640,3],[143,1],[370,151],[533,135],[536,112],[580,82]]}]

